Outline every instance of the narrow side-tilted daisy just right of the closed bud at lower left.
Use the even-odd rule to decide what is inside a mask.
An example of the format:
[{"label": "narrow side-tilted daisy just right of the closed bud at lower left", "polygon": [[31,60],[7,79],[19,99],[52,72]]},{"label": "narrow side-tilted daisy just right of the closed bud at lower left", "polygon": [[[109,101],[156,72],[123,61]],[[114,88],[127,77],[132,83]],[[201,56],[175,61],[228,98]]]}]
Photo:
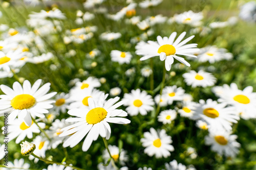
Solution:
[{"label": "narrow side-tilted daisy just right of the closed bud at lower left", "polygon": [[[34,154],[36,156],[45,158],[46,157],[46,151],[48,150],[49,141],[46,138],[41,137],[40,135],[36,136],[35,139],[32,141],[32,143],[35,144],[35,150]],[[37,163],[39,160],[38,158],[35,158],[33,155],[29,155],[29,159],[34,159],[34,162]]]}]

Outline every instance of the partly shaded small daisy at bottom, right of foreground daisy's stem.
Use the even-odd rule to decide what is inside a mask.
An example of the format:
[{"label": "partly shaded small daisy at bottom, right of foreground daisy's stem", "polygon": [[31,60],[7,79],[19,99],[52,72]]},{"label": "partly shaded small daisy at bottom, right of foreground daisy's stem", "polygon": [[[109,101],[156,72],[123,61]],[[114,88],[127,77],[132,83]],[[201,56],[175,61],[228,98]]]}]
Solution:
[{"label": "partly shaded small daisy at bottom, right of foreground daisy's stem", "polygon": [[[121,165],[124,165],[127,160],[128,160],[128,156],[126,155],[126,151],[124,151],[123,149],[120,150],[120,153],[119,153],[119,148],[115,145],[109,145],[109,150],[110,150],[110,154],[111,154],[111,157],[115,160],[115,162],[118,162],[120,161],[120,164]],[[110,158],[110,154],[108,152],[108,150],[104,150],[103,151],[103,159],[106,162],[108,162],[109,158]]]}]

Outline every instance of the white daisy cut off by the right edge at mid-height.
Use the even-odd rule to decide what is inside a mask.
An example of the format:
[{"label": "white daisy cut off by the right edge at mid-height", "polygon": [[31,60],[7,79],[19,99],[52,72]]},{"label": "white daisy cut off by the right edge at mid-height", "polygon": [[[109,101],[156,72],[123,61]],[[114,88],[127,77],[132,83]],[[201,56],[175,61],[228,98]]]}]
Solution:
[{"label": "white daisy cut off by the right edge at mid-height", "polygon": [[225,90],[220,94],[218,102],[236,107],[237,112],[244,119],[256,117],[254,111],[256,109],[256,93],[252,91],[252,86],[240,90],[236,83],[231,83],[230,87],[223,85],[223,88]]}]

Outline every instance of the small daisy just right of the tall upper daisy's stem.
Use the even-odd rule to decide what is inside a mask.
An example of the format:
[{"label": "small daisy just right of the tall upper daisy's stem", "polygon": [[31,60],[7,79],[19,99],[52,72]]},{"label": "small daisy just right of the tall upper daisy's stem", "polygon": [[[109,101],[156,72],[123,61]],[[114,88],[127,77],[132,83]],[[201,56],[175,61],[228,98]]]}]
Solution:
[{"label": "small daisy just right of the tall upper daisy's stem", "polygon": [[182,87],[166,86],[163,88],[162,96],[167,100],[169,105],[172,105],[174,101],[181,101],[185,90]]}]

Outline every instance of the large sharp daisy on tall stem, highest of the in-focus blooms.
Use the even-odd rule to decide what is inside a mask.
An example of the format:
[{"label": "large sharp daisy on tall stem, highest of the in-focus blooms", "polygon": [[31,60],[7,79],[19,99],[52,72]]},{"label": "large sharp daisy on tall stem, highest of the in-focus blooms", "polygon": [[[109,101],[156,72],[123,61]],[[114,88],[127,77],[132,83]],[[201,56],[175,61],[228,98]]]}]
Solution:
[{"label": "large sharp daisy on tall stem, highest of the in-focus blooms", "polygon": [[[152,58],[155,56],[159,56],[161,61],[165,60],[165,68],[167,71],[170,70],[170,67],[172,66],[174,62],[174,58],[181,63],[185,64],[186,66],[190,66],[190,64],[184,60],[182,57],[178,57],[177,55],[182,56],[189,56],[189,57],[195,57],[197,56],[193,55],[192,53],[198,52],[199,49],[195,48],[197,47],[197,44],[186,44],[188,41],[193,39],[195,36],[190,36],[187,39],[181,41],[185,35],[186,32],[183,32],[177,39],[174,41],[177,33],[173,32],[169,38],[168,37],[161,37],[157,36],[157,42],[154,41],[147,41],[148,44],[145,44],[143,46],[140,46],[136,50],[137,55],[143,55],[142,58],[140,58],[141,61],[146,60],[148,58]],[[186,44],[186,45],[185,45]]]}]

